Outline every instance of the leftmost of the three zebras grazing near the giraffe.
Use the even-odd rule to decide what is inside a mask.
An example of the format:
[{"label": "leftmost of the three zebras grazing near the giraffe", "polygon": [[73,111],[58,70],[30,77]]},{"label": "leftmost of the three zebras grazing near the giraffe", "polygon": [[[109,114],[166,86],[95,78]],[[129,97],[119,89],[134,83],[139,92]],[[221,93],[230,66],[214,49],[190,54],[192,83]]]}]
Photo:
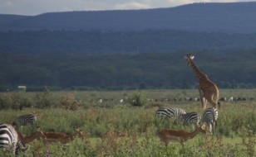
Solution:
[{"label": "leftmost of the three zebras grazing near the giraffe", "polygon": [[186,112],[181,108],[167,108],[160,107],[156,112],[155,116],[171,118],[171,117],[179,117],[181,114],[185,114]]}]

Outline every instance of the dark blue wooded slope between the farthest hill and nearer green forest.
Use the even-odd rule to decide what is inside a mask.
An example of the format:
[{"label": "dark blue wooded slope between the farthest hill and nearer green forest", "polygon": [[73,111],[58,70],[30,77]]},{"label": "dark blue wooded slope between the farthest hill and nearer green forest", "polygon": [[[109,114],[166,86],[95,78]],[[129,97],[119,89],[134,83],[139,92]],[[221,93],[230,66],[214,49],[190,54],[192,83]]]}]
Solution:
[{"label": "dark blue wooded slope between the farthest hill and nearer green forest", "polygon": [[146,31],[7,31],[0,50],[13,53],[170,53],[177,50],[253,49],[256,34],[175,30]]}]

